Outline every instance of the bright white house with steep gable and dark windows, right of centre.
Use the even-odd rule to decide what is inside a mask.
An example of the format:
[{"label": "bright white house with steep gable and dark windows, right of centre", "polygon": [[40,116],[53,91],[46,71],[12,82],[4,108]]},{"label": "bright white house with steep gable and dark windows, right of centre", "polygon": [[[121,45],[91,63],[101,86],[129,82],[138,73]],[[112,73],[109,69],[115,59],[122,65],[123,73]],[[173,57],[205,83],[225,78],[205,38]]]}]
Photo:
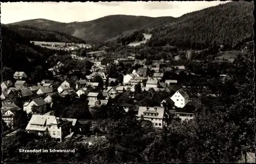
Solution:
[{"label": "bright white house with steep gable and dark windows, right of centre", "polygon": [[183,108],[189,102],[189,96],[182,88],[176,91],[171,99],[175,102],[175,106],[180,108]]}]

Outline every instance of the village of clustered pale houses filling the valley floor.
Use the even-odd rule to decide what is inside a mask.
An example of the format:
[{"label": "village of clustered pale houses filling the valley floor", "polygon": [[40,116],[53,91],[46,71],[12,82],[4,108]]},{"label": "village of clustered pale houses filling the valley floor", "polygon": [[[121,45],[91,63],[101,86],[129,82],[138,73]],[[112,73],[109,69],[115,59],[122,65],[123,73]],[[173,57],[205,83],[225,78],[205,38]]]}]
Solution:
[{"label": "village of clustered pale houses filling the valley floor", "polygon": [[[172,120],[191,120],[200,113],[200,91],[206,91],[207,96],[218,95],[211,92],[207,86],[186,86],[181,80],[182,76],[197,78],[201,75],[191,72],[184,65],[172,65],[169,64],[170,61],[164,60],[153,60],[150,64],[146,59],[138,60],[133,56],[126,59],[109,59],[104,57],[104,50],[88,52],[86,57],[80,57],[75,53],[68,51],[66,56],[69,55],[72,60],[89,61],[92,65],[90,73],[86,73],[86,70],[70,70],[68,74],[60,74],[59,70],[65,64],[58,61],[54,67],[49,68],[56,80],[43,79],[38,81],[37,85],[31,86],[27,84],[30,77],[26,72],[17,70],[13,74],[13,80],[2,82],[2,117],[9,128],[13,127],[15,115],[24,111],[31,115],[26,126],[28,132],[48,131],[51,137],[59,142],[68,138],[86,139],[87,136],[94,136],[97,119],[63,118],[54,115],[56,101],[53,102],[53,99],[66,98],[74,101],[82,97],[92,115],[99,107],[104,110],[117,106],[120,111],[130,111],[137,119],[151,121],[154,128],[162,129]],[[223,60],[223,63],[225,62],[229,63]],[[120,71],[115,78],[110,73],[118,71],[115,70],[118,67],[129,68],[130,73],[123,74]],[[80,78],[75,75],[77,72],[82,74]],[[223,83],[226,77],[228,74],[220,74],[209,79],[217,79]],[[141,95],[147,99],[143,101],[142,98],[141,101]],[[14,103],[13,99],[16,97],[22,102],[22,107]],[[122,98],[123,102],[120,101]],[[83,128],[88,128],[88,122],[90,130],[83,133]],[[8,135],[14,134],[17,130],[19,129]]]}]

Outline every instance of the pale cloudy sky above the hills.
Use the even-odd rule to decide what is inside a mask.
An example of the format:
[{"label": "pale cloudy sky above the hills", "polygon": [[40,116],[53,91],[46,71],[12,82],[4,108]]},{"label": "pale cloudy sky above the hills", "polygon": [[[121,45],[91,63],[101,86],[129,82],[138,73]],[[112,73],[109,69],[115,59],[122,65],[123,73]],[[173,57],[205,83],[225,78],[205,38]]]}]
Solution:
[{"label": "pale cloudy sky above the hills", "polygon": [[108,15],[173,16],[230,1],[190,2],[8,2],[1,3],[1,23],[44,18],[59,22],[89,21]]}]

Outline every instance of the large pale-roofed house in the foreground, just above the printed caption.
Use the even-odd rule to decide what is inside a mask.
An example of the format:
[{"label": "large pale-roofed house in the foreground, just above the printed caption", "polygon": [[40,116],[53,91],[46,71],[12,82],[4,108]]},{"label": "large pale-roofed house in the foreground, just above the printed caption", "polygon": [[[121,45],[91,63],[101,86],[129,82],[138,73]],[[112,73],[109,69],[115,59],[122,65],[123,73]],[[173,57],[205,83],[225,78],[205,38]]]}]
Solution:
[{"label": "large pale-roofed house in the foreground, just above the printed caption", "polygon": [[61,142],[71,133],[72,121],[57,119],[55,116],[32,115],[26,130],[39,134],[48,133],[51,138]]}]

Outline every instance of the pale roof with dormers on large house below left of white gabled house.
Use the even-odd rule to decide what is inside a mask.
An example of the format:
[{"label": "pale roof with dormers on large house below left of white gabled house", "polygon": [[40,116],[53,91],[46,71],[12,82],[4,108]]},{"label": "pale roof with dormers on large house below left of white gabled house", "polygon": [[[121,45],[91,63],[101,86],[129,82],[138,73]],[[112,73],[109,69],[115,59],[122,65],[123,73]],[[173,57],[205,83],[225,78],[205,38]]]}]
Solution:
[{"label": "pale roof with dormers on large house below left of white gabled house", "polygon": [[[157,116],[151,116],[151,115],[143,115],[143,113],[158,113]],[[143,117],[146,118],[158,118],[158,119],[163,119],[164,117],[164,108],[160,106],[155,106],[155,107],[147,107],[147,106],[139,106],[139,111],[136,117]]]}]

